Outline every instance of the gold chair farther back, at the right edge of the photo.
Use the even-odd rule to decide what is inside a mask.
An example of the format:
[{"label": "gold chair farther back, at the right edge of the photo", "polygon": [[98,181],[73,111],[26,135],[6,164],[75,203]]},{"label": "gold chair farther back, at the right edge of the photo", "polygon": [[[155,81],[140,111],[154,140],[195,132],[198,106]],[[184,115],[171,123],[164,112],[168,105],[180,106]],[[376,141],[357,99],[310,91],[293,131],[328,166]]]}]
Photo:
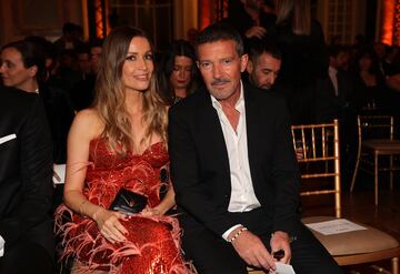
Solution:
[{"label": "gold chair farther back, at the right edge of the photo", "polygon": [[[374,175],[374,204],[378,205],[379,171],[390,172],[390,190],[393,189],[393,155],[400,154],[400,140],[393,140],[393,116],[358,115],[358,154],[350,191],[354,189],[360,163],[362,170]],[[380,156],[389,156],[389,168],[379,168]],[[368,169],[369,168],[369,169]]]}]

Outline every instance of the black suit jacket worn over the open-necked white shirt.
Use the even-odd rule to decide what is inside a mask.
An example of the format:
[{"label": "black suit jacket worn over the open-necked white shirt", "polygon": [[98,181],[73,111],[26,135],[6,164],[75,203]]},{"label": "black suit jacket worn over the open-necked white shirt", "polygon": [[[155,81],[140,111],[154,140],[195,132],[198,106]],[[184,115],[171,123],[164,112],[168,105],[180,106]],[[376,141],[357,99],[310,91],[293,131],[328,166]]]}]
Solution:
[{"label": "black suit jacket worn over the open-necked white shirt", "polygon": [[[248,154],[254,193],[272,231],[294,233],[299,172],[284,100],[244,84]],[[222,129],[207,90],[169,112],[171,179],[191,225],[218,235],[238,224],[228,212],[230,168]],[[183,230],[189,229],[183,225]]]}]

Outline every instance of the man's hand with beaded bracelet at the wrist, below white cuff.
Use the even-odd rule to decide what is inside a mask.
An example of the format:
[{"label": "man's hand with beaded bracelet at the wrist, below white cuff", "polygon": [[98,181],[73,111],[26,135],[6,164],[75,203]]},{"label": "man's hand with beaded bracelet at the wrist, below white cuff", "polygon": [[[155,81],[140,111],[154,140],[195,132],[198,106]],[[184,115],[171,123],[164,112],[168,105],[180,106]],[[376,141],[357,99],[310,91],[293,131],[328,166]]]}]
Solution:
[{"label": "man's hand with beaded bracelet at the wrist, below white cuff", "polygon": [[[242,227],[232,231],[228,239],[232,239],[236,233]],[[234,250],[241,258],[251,266],[277,270],[271,254],[267,251],[261,240],[250,231],[243,231],[232,242]]]}]

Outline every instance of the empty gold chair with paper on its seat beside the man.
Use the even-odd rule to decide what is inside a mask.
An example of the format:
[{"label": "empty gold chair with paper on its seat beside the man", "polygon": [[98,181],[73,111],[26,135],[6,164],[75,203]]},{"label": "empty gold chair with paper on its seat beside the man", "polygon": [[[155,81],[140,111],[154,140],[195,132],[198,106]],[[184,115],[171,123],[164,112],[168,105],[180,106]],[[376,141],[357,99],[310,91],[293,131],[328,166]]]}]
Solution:
[{"label": "empty gold chair with paper on its seat beside the man", "polygon": [[[334,195],[336,216],[312,216],[302,219],[302,222],[311,224],[340,219],[338,121],[334,120],[333,123],[329,124],[293,125],[292,136],[293,145],[298,152],[299,144],[301,148],[302,158],[299,159],[298,156],[298,162],[301,169],[302,185],[309,181],[318,186],[323,186],[323,190],[313,187],[309,191],[301,191],[301,195]],[[391,260],[392,273],[399,274],[399,242],[377,229],[364,224],[359,225],[367,230],[333,235],[323,235],[317,231],[311,231],[341,266]]]}]

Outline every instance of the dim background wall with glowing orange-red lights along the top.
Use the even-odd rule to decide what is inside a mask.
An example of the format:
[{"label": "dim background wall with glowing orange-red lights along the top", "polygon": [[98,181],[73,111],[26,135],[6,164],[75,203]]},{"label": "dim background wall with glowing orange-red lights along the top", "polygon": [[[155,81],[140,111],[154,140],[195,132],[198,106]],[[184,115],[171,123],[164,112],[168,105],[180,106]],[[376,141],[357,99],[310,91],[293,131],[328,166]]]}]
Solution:
[{"label": "dim background wall with glowing orange-red lights along the top", "polygon": [[[152,34],[157,47],[189,39],[190,31],[227,16],[228,0],[1,0],[0,44],[24,35],[54,40],[62,24],[82,26],[84,39],[103,37],[114,26],[132,24]],[[312,0],[327,42],[399,44],[400,0]]]}]

